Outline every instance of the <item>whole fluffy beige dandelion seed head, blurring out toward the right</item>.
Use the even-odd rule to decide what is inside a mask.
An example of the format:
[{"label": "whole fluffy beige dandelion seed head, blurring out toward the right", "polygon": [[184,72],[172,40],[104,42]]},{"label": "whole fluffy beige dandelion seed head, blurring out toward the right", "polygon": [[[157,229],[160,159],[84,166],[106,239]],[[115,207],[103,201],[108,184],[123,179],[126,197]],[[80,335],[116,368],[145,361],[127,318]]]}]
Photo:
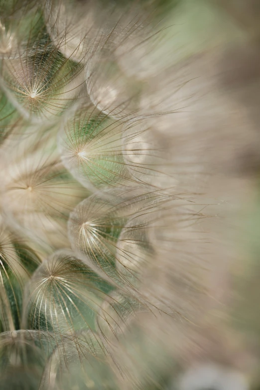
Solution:
[{"label": "whole fluffy beige dandelion seed head, blurring out toward the right", "polygon": [[[158,8],[170,2],[158,0]],[[219,307],[229,254],[218,273],[222,242],[212,239],[214,221],[201,222],[207,183],[197,177],[214,166],[223,172],[236,159],[231,143],[243,151],[251,137],[236,135],[231,112],[242,123],[241,105],[227,105],[232,99],[215,82],[218,61],[203,55],[204,29],[196,54],[193,36],[180,34],[192,24],[181,14],[193,7],[173,3],[158,18],[154,0],[0,0],[0,331],[32,329],[0,335],[6,389],[17,372],[34,382],[17,389],[162,388],[176,350],[190,343],[184,355],[197,352],[189,330],[204,329]],[[211,12],[194,20],[200,13]],[[41,261],[27,256],[25,241]],[[11,343],[19,348],[6,354]]]}]

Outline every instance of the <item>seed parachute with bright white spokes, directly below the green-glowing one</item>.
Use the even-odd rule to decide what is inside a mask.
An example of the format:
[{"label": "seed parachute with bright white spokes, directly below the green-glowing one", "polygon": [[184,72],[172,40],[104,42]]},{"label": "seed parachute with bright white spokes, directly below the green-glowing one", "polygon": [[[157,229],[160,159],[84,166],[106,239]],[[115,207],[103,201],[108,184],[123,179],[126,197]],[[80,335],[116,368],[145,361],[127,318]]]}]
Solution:
[{"label": "seed parachute with bright white spokes, directly below the green-glowing one", "polygon": [[[144,217],[140,217],[140,220],[143,221],[144,232],[145,214],[153,207],[156,208],[157,202],[159,204],[167,199],[168,195],[156,193],[151,188],[147,191],[146,187],[134,189],[126,187],[125,190],[117,190],[117,192],[110,190],[105,195],[106,197],[101,197],[99,194],[93,194],[70,214],[68,222],[70,243],[73,250],[79,256],[83,256],[86,263],[100,275],[133,293],[138,280],[138,271],[134,265],[134,269],[130,269],[131,267],[125,266],[124,262],[128,260],[130,262],[134,258],[136,263],[139,261],[141,269],[142,259],[137,259],[138,255],[134,255],[133,252],[127,253],[124,239],[120,239],[122,237],[120,235],[123,234],[124,237],[125,233],[121,232],[130,232],[130,226],[126,225],[127,221],[135,215],[142,214]],[[138,223],[133,224],[132,231],[134,232],[135,229],[138,230]],[[148,240],[144,239],[142,242],[141,237],[137,241],[140,248],[142,245],[149,246]],[[137,248],[130,245],[128,249],[135,251]],[[132,264],[133,262],[134,260]]]}]

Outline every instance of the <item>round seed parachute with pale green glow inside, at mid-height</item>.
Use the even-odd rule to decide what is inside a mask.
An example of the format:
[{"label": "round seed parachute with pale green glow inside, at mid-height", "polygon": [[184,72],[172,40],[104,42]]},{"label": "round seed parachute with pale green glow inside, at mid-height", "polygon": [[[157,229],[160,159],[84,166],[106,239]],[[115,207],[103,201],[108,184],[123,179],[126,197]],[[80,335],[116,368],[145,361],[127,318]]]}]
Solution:
[{"label": "round seed parachute with pale green glow inside, at mid-height", "polygon": [[121,129],[121,123],[92,105],[83,105],[61,124],[58,145],[62,162],[86,188],[124,186],[130,179],[122,155]]}]

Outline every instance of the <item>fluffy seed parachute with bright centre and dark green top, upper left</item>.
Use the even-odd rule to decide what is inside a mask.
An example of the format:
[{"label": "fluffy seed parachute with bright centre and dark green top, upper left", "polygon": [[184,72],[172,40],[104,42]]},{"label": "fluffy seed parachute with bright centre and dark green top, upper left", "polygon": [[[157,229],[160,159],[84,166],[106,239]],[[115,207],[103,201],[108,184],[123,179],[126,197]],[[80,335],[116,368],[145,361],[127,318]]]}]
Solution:
[{"label": "fluffy seed parachute with bright centre and dark green top, upper left", "polygon": [[26,119],[53,120],[71,106],[84,84],[83,65],[66,59],[41,33],[24,58],[4,62],[5,88]]}]

